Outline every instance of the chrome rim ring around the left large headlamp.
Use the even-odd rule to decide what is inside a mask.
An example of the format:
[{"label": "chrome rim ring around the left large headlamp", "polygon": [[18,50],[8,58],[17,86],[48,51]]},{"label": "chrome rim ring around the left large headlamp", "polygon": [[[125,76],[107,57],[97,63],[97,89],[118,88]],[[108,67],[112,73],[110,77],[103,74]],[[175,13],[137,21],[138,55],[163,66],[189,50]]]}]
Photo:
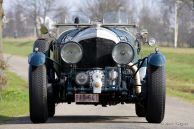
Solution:
[{"label": "chrome rim ring around the left large headlamp", "polygon": [[[67,44],[76,44],[77,46],[79,46],[79,48],[80,48],[80,50],[81,50],[81,57],[80,57],[80,59],[79,59],[78,61],[76,61],[76,62],[66,62],[65,59],[63,58],[63,56],[62,56],[62,50],[63,50],[63,48],[65,47],[65,45],[67,45]],[[60,56],[61,56],[61,59],[62,59],[65,63],[67,63],[67,64],[77,64],[78,62],[81,61],[81,59],[82,59],[82,57],[83,57],[83,48],[82,48],[82,46],[81,46],[79,43],[77,43],[77,42],[75,42],[75,41],[68,41],[68,42],[64,43],[63,46],[61,47]]]}]

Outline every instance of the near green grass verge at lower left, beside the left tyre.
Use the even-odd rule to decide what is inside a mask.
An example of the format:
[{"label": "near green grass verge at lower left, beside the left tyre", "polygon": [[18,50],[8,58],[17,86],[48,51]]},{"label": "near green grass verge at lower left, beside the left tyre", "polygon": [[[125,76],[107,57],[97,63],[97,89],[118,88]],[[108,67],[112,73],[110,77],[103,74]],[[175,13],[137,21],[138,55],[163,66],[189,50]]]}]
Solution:
[{"label": "near green grass verge at lower left, beside the left tyre", "polygon": [[6,72],[8,83],[0,91],[0,122],[26,115],[29,109],[27,82]]}]

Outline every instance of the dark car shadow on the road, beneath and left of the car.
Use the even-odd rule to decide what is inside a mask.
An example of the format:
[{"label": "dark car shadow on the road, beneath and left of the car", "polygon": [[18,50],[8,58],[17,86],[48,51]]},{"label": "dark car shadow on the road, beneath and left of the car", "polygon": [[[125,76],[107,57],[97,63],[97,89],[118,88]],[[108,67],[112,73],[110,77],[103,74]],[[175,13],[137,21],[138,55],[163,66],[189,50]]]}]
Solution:
[{"label": "dark car shadow on the road, beneath and left of the car", "polygon": [[[46,123],[146,123],[137,116],[68,115],[49,118]],[[15,117],[0,124],[31,124],[29,116]]]}]

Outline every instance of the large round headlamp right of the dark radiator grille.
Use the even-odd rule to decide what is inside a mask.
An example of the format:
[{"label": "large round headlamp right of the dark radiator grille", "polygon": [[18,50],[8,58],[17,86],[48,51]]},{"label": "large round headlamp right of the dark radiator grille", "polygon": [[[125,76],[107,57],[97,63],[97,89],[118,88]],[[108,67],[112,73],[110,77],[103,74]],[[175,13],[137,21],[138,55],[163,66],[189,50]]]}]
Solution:
[{"label": "large round headlamp right of the dark radiator grille", "polygon": [[134,58],[134,51],[128,43],[118,43],[112,51],[112,58],[118,64],[128,64]]}]

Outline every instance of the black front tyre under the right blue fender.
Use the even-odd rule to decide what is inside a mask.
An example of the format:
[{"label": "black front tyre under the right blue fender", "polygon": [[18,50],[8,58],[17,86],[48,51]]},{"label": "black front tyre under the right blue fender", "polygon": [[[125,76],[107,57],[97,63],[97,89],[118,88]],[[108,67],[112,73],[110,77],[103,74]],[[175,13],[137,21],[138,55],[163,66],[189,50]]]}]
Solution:
[{"label": "black front tyre under the right blue fender", "polygon": [[149,123],[161,123],[165,113],[166,75],[165,68],[148,67],[146,119]]}]

